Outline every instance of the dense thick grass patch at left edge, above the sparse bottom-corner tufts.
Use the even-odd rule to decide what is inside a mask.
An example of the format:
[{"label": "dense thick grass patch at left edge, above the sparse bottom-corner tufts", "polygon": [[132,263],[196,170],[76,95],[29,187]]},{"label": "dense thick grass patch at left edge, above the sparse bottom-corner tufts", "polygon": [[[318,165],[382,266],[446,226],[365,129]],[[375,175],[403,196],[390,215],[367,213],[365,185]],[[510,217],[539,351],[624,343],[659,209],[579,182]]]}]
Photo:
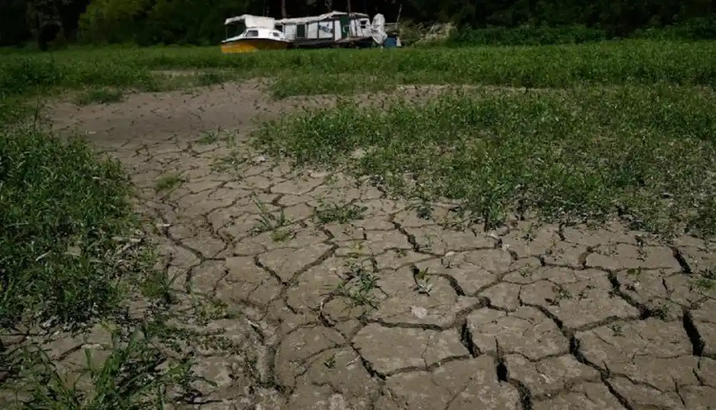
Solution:
[{"label": "dense thick grass patch at left edge, above the sparse bottom-corner tufts", "polygon": [[120,165],[81,140],[14,127],[0,129],[0,181],[1,326],[112,311],[117,278],[136,268],[117,265],[137,228]]}]

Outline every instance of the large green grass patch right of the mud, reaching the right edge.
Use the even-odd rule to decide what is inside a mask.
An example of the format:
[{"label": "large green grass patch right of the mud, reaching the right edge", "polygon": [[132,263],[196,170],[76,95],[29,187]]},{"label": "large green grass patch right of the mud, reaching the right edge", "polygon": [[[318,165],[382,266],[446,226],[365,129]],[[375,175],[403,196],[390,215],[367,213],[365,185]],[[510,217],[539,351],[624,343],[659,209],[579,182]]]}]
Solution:
[{"label": "large green grass patch right of the mud, reaching the right edge", "polygon": [[381,107],[343,102],[267,122],[256,137],[297,165],[347,162],[397,193],[463,200],[487,227],[536,211],[713,235],[715,101],[690,87],[473,89]]}]

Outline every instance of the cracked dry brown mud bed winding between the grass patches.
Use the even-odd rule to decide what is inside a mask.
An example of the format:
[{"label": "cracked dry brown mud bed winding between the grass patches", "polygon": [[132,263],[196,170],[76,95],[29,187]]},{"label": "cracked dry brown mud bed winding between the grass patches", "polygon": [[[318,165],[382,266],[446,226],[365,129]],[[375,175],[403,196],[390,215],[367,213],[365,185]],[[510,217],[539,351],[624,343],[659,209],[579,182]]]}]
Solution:
[{"label": "cracked dry brown mud bed winding between the grass patches", "polygon": [[[450,230],[440,204],[422,219],[367,181],[252,152],[251,119],[288,107],[261,98],[231,84],[54,112],[130,172],[176,290],[241,313],[186,325],[233,347],[202,348],[214,385],[178,408],[716,406],[716,291],[696,283],[716,264],[709,243],[618,223]],[[217,127],[234,147],[197,142]],[[236,152],[248,160],[217,166]],[[168,175],[182,182],[158,192]],[[257,201],[284,213],[280,235],[256,234]],[[326,203],[365,212],[320,225]]]}]

